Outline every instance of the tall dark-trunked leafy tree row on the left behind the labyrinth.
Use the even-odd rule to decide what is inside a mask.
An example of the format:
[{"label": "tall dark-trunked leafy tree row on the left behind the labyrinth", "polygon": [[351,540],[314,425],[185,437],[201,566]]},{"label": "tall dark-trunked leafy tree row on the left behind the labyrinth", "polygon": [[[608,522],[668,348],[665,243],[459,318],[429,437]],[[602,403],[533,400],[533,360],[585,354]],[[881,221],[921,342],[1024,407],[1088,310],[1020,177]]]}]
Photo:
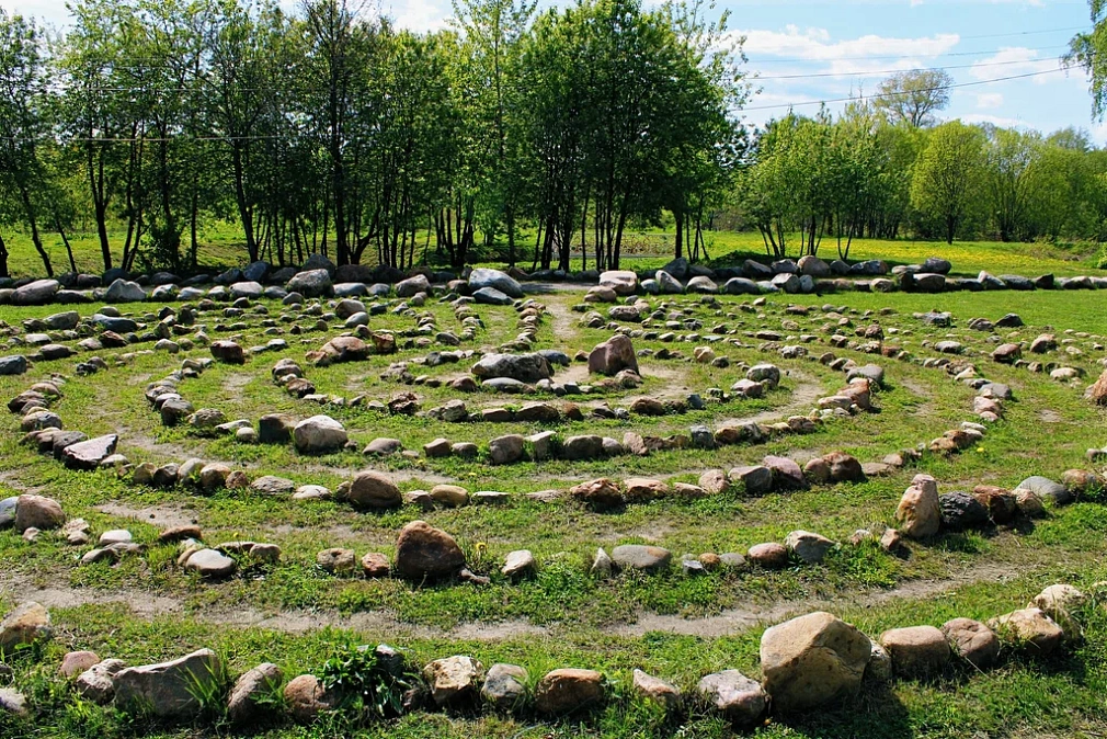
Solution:
[{"label": "tall dark-trunked leafy tree row on the left behind the labyrinth", "polygon": [[43,233],[79,227],[105,269],[187,270],[213,217],[279,264],[618,267],[662,213],[680,252],[743,153],[741,41],[711,10],[457,0],[420,34],[346,0],[77,0],[56,35],[0,10],[0,274],[13,228],[49,274]]}]

